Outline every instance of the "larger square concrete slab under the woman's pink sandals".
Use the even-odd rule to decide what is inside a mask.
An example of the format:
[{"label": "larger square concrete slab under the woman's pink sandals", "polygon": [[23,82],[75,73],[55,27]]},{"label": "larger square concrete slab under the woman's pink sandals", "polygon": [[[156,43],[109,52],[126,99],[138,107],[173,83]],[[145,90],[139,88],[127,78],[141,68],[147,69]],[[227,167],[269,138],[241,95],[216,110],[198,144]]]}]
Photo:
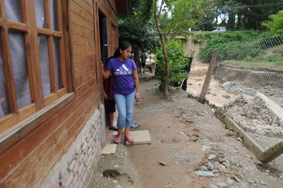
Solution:
[{"label": "larger square concrete slab under the woman's pink sandals", "polygon": [[129,131],[129,135],[133,137],[134,143],[126,141],[126,145],[151,144],[151,138],[148,130]]}]

